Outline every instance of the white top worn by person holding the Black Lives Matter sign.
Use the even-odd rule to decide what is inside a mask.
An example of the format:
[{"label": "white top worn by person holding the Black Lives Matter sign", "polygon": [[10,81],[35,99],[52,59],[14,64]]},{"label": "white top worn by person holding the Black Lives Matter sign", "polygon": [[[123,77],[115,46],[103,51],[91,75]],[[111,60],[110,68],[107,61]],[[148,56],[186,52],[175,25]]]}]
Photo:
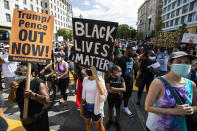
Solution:
[{"label": "white top worn by person holding the Black Lives Matter sign", "polygon": [[[89,77],[84,78],[83,80],[83,91],[82,91],[82,99],[85,100],[87,103],[94,104],[96,93],[97,93],[97,85],[96,80],[89,80]],[[101,84],[105,86],[104,80],[99,77]]]}]

